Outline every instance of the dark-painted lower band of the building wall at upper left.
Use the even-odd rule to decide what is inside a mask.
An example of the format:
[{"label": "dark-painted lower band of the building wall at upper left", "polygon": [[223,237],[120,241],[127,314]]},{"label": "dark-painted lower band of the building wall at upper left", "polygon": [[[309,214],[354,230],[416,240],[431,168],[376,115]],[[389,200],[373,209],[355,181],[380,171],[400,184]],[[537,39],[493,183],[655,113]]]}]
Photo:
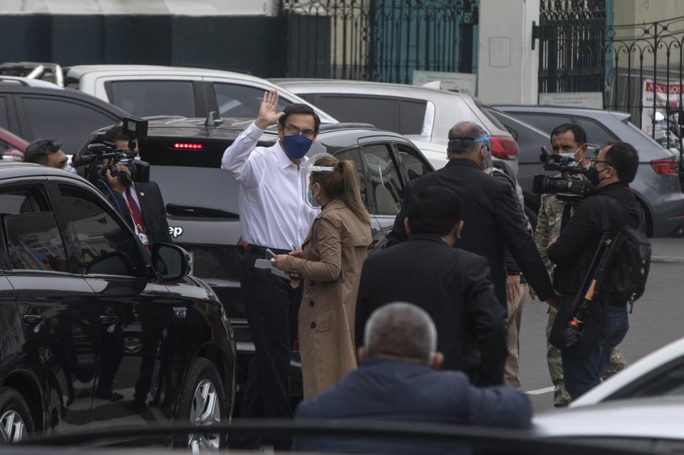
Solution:
[{"label": "dark-painted lower band of the building wall at upper left", "polygon": [[281,77],[286,48],[274,43],[283,26],[274,16],[0,15],[0,30],[12,37],[0,46],[0,62],[202,66]]}]

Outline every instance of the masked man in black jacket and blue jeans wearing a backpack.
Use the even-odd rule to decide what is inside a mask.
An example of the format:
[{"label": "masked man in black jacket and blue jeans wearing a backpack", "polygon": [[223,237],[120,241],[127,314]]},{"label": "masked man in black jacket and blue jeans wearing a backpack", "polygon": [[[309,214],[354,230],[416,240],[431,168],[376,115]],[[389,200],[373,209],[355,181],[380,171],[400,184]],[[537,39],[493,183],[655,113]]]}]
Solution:
[{"label": "masked man in black jacket and blue jeans wearing a backpack", "polygon": [[[586,178],[595,190],[583,198],[559,237],[551,237],[546,250],[549,260],[556,264],[556,288],[563,296],[551,337],[554,332],[566,337],[572,334],[566,324],[573,322],[581,295],[585,295],[582,304],[591,305],[582,320],[574,319],[585,328],[579,334],[582,349],[571,349],[580,344],[579,337],[561,344],[563,377],[572,399],[601,382],[613,348],[629,327],[627,301],[603,285],[603,278],[611,275],[610,267],[615,267],[616,262],[596,259],[599,247],[610,245],[617,232],[623,232],[626,226],[641,229],[643,225],[643,210],[629,188],[638,164],[636,150],[623,142],[607,145],[596,159],[590,160]],[[596,268],[596,262],[601,267]],[[591,286],[587,287],[588,283]],[[558,342],[554,344],[559,346]]]}]

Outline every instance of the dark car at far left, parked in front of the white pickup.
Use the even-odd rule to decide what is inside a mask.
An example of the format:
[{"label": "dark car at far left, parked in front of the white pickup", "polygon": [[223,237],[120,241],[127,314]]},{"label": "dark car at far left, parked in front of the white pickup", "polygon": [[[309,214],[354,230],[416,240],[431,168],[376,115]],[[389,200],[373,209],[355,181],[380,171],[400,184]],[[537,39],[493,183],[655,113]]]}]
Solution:
[{"label": "dark car at far left, parked in front of the white pickup", "polygon": [[120,108],[86,93],[22,79],[0,76],[0,128],[28,141],[61,140],[62,150],[68,155],[76,153],[91,132],[128,116]]}]

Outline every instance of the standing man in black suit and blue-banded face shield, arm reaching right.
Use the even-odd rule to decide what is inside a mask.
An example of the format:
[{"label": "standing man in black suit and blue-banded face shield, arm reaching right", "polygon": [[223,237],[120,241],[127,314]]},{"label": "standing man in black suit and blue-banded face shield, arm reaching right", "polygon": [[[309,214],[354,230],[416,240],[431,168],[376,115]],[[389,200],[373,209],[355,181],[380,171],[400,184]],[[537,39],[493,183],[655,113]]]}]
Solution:
[{"label": "standing man in black suit and blue-banded face shield, arm reaching right", "polygon": [[[558,297],[541,262],[537,245],[520,222],[522,208],[506,183],[482,172],[490,158],[487,133],[471,122],[457,123],[449,131],[444,168],[412,180],[404,190],[403,206],[390,232],[390,245],[407,239],[404,218],[411,195],[427,186],[449,188],[461,199],[465,225],[454,244],[463,250],[484,256],[489,261],[497,298],[506,308],[505,248],[512,252],[520,270],[541,300],[557,307]],[[427,266],[427,264],[426,264]]]}]

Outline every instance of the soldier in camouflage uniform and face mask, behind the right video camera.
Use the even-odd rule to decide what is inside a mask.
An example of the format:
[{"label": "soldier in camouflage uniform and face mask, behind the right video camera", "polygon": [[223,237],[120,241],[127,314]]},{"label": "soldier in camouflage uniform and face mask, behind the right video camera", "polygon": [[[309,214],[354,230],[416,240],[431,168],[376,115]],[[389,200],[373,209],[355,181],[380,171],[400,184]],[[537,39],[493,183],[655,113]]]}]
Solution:
[{"label": "soldier in camouflage uniform and face mask, behind the right video camera", "polygon": [[[586,133],[581,126],[571,123],[564,123],[557,126],[551,132],[551,146],[554,153],[571,153],[573,158],[579,161],[580,165],[587,167],[589,160],[586,159]],[[577,175],[575,178],[584,178],[584,175]],[[549,275],[553,278],[554,265],[546,255],[546,248],[551,240],[555,240],[561,233],[561,220],[563,217],[563,203],[556,199],[556,195],[541,195],[541,207],[537,218],[537,229],[534,231],[534,242],[541,259],[549,270]],[[549,339],[551,327],[556,319],[557,310],[549,308],[549,320],[546,322],[546,339]],[[570,402],[570,395],[566,391],[563,383],[563,364],[561,363],[561,352],[548,341],[546,342],[546,362],[549,364],[549,374],[554,383],[554,406],[566,406]],[[627,367],[627,362],[617,348],[611,352],[611,361],[606,369],[606,377],[616,374],[621,369]]]}]

